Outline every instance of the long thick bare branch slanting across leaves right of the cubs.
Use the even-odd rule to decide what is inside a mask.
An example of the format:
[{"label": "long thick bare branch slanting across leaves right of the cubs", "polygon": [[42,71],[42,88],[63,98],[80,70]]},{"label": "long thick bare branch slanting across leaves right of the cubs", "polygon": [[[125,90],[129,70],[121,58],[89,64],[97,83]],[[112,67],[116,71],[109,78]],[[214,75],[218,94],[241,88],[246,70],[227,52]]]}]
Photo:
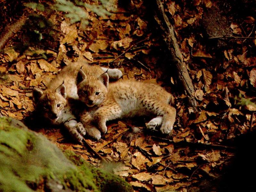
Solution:
[{"label": "long thick bare branch slanting across leaves right of the cubs", "polygon": [[167,45],[168,51],[171,53],[172,59],[175,61],[174,64],[178,69],[178,76],[180,81],[182,82],[183,88],[188,94],[189,103],[194,108],[194,110],[197,111],[197,104],[194,97],[195,89],[189,77],[186,64],[183,60],[182,53],[180,51],[180,47],[175,36],[174,28],[168,20],[166,14],[164,13],[164,7],[161,0],[156,0],[156,3],[153,7],[156,7],[154,15],[155,20],[158,24],[158,27],[162,31],[162,36]]}]

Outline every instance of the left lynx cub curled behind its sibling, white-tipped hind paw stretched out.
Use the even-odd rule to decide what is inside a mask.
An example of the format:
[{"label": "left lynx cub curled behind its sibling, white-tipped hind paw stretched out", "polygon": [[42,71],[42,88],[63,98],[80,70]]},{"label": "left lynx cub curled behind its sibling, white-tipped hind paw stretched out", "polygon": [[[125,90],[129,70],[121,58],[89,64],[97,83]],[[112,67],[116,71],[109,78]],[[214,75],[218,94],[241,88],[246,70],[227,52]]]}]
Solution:
[{"label": "left lynx cub curled behind its sibling, white-tipped hind paw stretched out", "polygon": [[[78,123],[75,112],[75,100],[78,100],[76,77],[82,68],[88,77],[100,76],[107,68],[89,66],[83,62],[75,62],[64,67],[60,73],[48,84],[46,90],[34,88],[33,98],[36,110],[52,124],[64,124],[75,140],[81,141],[85,135],[83,124]],[[119,69],[108,69],[112,79],[119,79],[122,72]],[[79,81],[79,79],[78,79]]]}]

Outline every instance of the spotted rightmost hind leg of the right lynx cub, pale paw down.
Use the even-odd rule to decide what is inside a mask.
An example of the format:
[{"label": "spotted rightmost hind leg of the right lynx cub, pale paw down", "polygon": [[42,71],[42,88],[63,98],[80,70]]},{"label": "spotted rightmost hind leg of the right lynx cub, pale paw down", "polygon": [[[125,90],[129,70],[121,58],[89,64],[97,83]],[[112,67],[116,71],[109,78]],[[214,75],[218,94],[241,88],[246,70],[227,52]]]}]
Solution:
[{"label": "spotted rightmost hind leg of the right lynx cub, pale paw down", "polygon": [[166,110],[164,110],[164,115],[163,115],[163,123],[162,123],[162,126],[160,127],[160,131],[162,133],[168,134],[172,131],[173,124],[175,122],[175,117],[176,117],[176,109],[171,106],[166,107]]}]

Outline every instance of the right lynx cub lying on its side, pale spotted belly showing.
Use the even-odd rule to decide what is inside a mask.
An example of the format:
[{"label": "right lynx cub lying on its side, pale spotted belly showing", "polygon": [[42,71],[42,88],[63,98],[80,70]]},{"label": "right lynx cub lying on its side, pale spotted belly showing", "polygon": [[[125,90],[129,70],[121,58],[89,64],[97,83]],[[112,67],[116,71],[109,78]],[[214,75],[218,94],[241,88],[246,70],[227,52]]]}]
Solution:
[{"label": "right lynx cub lying on its side, pale spotted belly showing", "polygon": [[[92,128],[91,122],[98,124],[101,132],[107,132],[106,122],[123,117],[156,115],[148,124],[149,129],[161,126],[162,133],[172,131],[176,109],[169,105],[171,94],[162,87],[138,81],[119,81],[108,86],[108,74],[100,77],[87,76],[79,70],[77,93],[90,111],[83,112],[80,121],[86,128]],[[98,107],[98,108],[97,108]],[[88,134],[100,139],[95,128]]]}]

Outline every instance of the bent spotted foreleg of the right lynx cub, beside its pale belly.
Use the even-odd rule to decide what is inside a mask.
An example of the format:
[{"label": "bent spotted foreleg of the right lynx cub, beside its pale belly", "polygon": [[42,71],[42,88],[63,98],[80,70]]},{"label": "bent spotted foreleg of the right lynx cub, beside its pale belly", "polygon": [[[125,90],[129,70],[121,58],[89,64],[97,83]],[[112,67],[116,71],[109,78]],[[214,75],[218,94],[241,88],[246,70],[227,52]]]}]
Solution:
[{"label": "bent spotted foreleg of the right lynx cub, beside its pale belly", "polygon": [[107,132],[106,122],[120,118],[122,109],[117,103],[112,103],[99,108],[94,114],[94,122],[98,124],[101,132]]}]

